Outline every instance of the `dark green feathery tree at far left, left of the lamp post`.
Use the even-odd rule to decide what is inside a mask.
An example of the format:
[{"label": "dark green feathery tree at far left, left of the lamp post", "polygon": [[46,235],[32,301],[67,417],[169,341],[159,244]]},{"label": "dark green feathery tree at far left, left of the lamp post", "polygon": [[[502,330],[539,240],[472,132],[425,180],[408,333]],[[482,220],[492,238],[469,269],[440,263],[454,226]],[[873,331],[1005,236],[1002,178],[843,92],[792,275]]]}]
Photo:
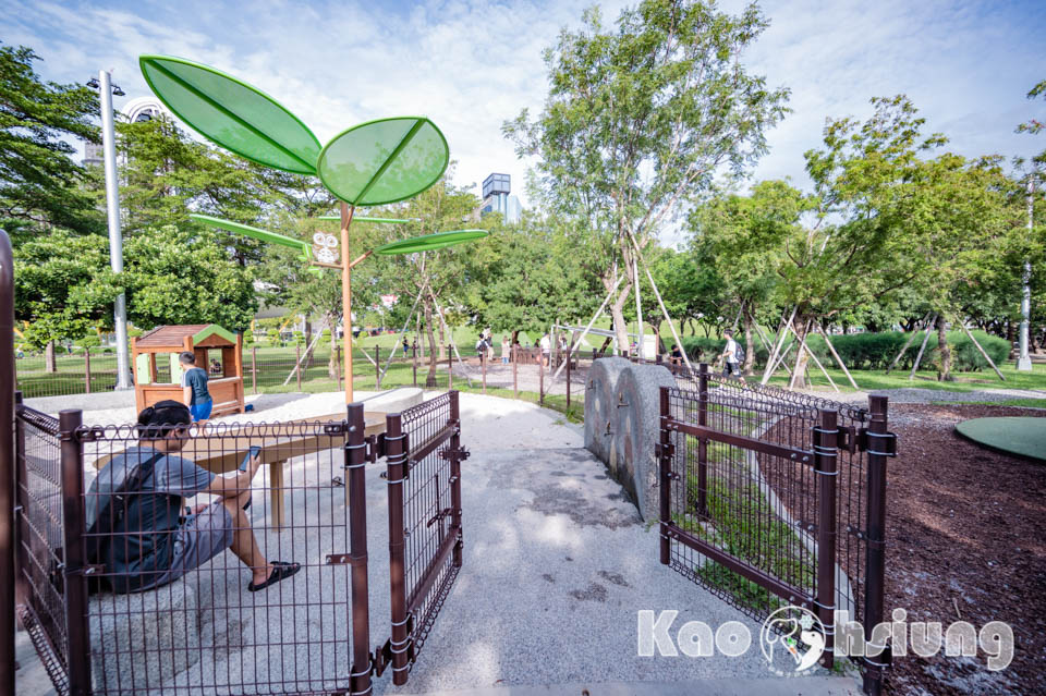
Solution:
[{"label": "dark green feathery tree at far left, left of the lamp post", "polygon": [[41,81],[38,60],[24,46],[0,47],[0,217],[15,236],[25,225],[98,232],[102,218],[82,186],[88,174],[69,143],[99,142],[98,95]]}]

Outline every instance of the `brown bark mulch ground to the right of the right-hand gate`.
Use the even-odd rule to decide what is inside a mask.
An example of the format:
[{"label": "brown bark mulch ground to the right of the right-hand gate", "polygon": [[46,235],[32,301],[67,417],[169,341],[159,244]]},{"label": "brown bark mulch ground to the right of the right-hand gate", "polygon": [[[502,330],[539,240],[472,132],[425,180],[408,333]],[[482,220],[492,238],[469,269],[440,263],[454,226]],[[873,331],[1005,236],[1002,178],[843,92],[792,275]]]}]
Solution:
[{"label": "brown bark mulch ground to the right of the right-hand gate", "polygon": [[[887,483],[886,612],[908,621],[989,621],[1013,628],[998,672],[985,656],[895,655],[887,693],[1046,694],[1046,464],[986,450],[954,432],[983,416],[1046,412],[985,405],[891,404],[901,456]],[[911,652],[911,649],[909,649]]]}]

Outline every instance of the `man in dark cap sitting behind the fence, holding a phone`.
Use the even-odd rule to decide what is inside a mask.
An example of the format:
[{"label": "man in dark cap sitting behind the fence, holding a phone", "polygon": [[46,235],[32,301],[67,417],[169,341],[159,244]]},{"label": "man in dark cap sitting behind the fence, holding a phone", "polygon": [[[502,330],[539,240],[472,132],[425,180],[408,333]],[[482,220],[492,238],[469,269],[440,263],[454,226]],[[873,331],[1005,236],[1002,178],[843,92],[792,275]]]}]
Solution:
[{"label": "man in dark cap sitting behind the fence, holding a phone", "polygon": [[[87,493],[88,529],[99,516],[99,505],[111,500],[135,466],[145,467],[138,486],[127,490],[121,518],[105,539],[98,561],[117,593],[136,593],[170,583],[231,548],[251,569],[248,591],[257,591],[294,575],[299,563],[269,562],[251,530],[244,506],[251,502],[251,480],[262,465],[250,460],[235,476],[216,476],[177,456],[188,440],[188,408],[161,401],[138,415],[139,444],[112,457]],[[197,505],[182,517],[184,499],[206,493],[214,503]]]}]

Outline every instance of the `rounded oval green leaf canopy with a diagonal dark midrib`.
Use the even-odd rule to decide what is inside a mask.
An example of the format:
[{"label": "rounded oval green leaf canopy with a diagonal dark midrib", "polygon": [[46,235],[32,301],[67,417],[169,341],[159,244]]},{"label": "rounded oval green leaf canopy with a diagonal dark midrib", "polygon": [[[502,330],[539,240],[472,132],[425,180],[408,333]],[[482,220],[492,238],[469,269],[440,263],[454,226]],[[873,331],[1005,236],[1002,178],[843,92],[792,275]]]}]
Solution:
[{"label": "rounded oval green leaf canopy with a diagonal dark midrib", "polygon": [[354,206],[380,206],[416,196],[450,161],[447,139],[424,117],[369,121],[335,136],[316,169],[336,196]]}]

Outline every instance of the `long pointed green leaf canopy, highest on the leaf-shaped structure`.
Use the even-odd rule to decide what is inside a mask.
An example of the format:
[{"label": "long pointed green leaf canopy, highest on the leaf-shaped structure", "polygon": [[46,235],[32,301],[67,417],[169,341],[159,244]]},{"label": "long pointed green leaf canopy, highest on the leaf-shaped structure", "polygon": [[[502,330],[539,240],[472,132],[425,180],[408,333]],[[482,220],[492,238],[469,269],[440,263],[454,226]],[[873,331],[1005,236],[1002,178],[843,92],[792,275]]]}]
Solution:
[{"label": "long pointed green leaf canopy, highest on the leaf-shaped structure", "polygon": [[181,58],[142,56],[138,63],[156,96],[205,137],[259,164],[316,173],[319,141],[268,95]]}]

